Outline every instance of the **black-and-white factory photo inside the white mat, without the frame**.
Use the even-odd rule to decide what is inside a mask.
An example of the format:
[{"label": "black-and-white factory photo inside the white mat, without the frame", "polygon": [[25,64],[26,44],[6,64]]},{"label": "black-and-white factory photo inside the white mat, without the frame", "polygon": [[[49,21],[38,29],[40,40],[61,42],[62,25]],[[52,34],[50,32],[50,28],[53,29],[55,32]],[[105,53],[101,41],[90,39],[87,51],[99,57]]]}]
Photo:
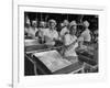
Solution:
[{"label": "black-and-white factory photo inside the white mat, without the frame", "polygon": [[99,73],[99,15],[24,12],[24,76]]}]

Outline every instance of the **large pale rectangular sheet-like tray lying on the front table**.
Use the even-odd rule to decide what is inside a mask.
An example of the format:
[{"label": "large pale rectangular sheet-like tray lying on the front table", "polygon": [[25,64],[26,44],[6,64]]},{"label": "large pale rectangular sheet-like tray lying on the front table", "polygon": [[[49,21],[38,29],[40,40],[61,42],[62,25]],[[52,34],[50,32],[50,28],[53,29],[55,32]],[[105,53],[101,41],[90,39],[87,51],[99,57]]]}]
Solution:
[{"label": "large pale rectangular sheet-like tray lying on the front table", "polygon": [[72,63],[64,59],[57,51],[35,53],[36,56],[52,73],[69,66]]}]

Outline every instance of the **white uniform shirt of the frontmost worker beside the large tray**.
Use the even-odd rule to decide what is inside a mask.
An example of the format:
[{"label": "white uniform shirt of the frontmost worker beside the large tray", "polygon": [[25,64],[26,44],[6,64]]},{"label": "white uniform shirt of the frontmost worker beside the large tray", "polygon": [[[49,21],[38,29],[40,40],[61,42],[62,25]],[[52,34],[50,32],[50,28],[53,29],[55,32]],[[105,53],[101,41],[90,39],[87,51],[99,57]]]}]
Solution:
[{"label": "white uniform shirt of the frontmost worker beside the large tray", "polygon": [[[77,37],[74,35],[72,36],[70,34],[65,35],[65,45],[69,45],[73,42],[75,42]],[[76,42],[70,48],[65,51],[65,56],[77,56],[75,48],[78,47],[78,43]]]}]

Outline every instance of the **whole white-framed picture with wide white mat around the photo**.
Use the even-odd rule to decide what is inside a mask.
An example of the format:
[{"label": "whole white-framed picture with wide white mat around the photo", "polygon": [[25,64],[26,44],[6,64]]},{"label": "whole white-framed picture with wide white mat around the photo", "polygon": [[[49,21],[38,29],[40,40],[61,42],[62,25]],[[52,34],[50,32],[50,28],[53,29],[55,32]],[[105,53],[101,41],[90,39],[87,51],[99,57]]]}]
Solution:
[{"label": "whole white-framed picture with wide white mat around the photo", "polygon": [[13,9],[14,88],[74,87],[106,80],[105,8],[16,4]]}]

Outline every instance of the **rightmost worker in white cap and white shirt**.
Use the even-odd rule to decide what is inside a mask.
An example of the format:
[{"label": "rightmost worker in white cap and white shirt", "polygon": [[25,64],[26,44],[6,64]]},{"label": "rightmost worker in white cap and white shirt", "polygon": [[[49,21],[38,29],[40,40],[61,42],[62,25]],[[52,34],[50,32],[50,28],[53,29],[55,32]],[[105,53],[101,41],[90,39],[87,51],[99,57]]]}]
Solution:
[{"label": "rightmost worker in white cap and white shirt", "polygon": [[90,30],[88,29],[89,25],[88,21],[84,21],[85,31],[80,35],[80,37],[84,38],[84,43],[89,43],[91,41]]}]

